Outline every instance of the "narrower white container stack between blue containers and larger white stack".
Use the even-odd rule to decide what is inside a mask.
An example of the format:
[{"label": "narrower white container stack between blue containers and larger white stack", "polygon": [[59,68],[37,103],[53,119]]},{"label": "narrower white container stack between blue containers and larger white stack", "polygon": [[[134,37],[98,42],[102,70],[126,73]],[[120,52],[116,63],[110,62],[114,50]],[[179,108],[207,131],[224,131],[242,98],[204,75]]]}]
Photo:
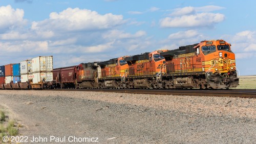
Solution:
[{"label": "narrower white container stack between blue containers and larger white stack", "polygon": [[32,79],[32,60],[20,62],[20,81],[22,83],[29,82]]}]

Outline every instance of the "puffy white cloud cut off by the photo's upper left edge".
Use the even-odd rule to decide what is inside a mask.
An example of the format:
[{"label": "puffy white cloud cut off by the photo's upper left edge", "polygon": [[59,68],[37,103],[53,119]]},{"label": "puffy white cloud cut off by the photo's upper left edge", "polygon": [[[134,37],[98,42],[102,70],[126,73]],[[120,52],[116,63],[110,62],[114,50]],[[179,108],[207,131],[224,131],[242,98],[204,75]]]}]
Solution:
[{"label": "puffy white cloud cut off by the photo's upper left edge", "polygon": [[0,7],[0,31],[7,31],[15,27],[24,26],[24,10],[13,9],[10,5]]}]

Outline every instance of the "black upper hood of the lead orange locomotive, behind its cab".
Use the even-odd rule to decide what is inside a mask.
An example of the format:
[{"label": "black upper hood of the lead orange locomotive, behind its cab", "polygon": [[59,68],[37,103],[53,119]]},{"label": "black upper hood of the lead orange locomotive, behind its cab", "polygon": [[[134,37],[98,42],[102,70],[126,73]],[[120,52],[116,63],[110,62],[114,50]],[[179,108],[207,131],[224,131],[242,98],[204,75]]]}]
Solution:
[{"label": "black upper hood of the lead orange locomotive, behind its cab", "polygon": [[196,46],[196,45],[198,45],[198,43],[191,44],[191,45],[186,45],[186,46],[180,46],[179,49],[170,50],[170,51],[167,51],[167,52],[160,53],[160,56],[169,57],[169,56],[174,56],[174,55],[194,53],[195,50],[193,49],[193,47]]}]

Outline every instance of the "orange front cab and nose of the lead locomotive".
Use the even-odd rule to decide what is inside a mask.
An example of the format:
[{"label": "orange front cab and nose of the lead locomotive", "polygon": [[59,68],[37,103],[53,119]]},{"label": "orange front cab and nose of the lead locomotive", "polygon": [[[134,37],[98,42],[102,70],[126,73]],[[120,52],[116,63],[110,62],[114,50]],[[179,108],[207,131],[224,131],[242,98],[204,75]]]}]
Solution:
[{"label": "orange front cab and nose of the lead locomotive", "polygon": [[222,89],[238,86],[236,60],[230,46],[224,40],[205,40],[194,47],[197,57],[202,60],[207,87]]}]

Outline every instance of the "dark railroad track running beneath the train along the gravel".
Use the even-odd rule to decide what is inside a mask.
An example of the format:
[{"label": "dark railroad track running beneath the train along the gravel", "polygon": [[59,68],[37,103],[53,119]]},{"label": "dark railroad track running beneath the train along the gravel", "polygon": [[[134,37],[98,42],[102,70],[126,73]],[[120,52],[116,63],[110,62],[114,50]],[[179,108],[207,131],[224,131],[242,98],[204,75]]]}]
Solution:
[{"label": "dark railroad track running beneath the train along the gravel", "polygon": [[182,90],[169,90],[169,89],[51,89],[51,90],[256,98],[256,89],[228,89],[228,90],[199,90],[199,89],[182,89]]}]

